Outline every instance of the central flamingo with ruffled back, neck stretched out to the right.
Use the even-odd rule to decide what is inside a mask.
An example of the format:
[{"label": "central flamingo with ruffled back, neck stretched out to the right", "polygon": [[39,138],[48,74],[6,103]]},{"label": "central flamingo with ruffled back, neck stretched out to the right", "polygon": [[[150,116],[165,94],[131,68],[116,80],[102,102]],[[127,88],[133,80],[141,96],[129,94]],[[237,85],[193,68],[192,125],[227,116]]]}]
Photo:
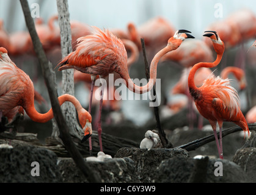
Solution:
[{"label": "central flamingo with ruffled back, neck stretched out to the right", "polygon": [[[177,49],[186,38],[194,38],[188,34],[188,30],[177,30],[174,37],[169,38],[167,46],[159,51],[150,65],[150,79],[147,85],[139,87],[130,79],[127,68],[127,53],[122,41],[115,37],[109,30],[101,30],[98,27],[90,27],[91,34],[78,38],[76,50],[68,54],[61,62],[59,71],[68,68],[75,68],[82,73],[89,73],[92,76],[92,87],[90,94],[89,110],[92,104],[92,91],[96,75],[101,78],[107,77],[109,73],[117,73],[123,79],[126,87],[134,93],[145,93],[150,91],[156,82],[156,68],[159,59],[166,52]],[[101,143],[101,110],[103,101],[103,89],[101,89],[100,111],[98,118],[98,138],[100,150],[103,151]],[[83,139],[85,140],[85,139]],[[89,140],[90,153],[92,144]]]}]

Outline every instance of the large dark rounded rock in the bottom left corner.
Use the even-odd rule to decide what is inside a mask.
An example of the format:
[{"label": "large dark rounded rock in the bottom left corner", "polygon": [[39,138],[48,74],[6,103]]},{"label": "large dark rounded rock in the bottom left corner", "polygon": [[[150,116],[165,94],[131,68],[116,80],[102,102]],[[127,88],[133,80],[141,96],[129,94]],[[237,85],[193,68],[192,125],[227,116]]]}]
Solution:
[{"label": "large dark rounded rock in the bottom left corner", "polygon": [[[38,165],[31,165],[32,162]],[[35,171],[36,168],[38,171]],[[39,176],[32,176],[38,172]],[[57,156],[47,149],[32,146],[0,148],[0,182],[62,182]]]}]

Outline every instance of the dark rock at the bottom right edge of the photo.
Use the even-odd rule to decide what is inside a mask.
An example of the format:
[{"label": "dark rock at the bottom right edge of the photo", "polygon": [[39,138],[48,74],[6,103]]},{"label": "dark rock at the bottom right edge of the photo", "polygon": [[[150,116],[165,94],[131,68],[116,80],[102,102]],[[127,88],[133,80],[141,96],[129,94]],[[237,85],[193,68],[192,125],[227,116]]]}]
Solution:
[{"label": "dark rock at the bottom right edge of the photo", "polygon": [[233,161],[246,172],[249,182],[256,182],[256,147],[246,147],[236,152]]}]

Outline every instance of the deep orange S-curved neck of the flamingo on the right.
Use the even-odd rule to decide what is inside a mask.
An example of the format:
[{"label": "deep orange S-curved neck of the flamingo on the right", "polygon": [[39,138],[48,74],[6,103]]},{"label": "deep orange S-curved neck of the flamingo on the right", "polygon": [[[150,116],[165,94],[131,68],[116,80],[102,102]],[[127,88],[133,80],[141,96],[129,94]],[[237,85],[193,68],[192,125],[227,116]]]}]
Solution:
[{"label": "deep orange S-curved neck of the flamingo on the right", "polygon": [[191,89],[198,90],[198,87],[196,87],[195,82],[194,82],[194,77],[195,77],[197,69],[202,68],[202,67],[213,68],[213,67],[217,66],[221,62],[222,55],[223,55],[223,53],[217,54],[217,59],[214,62],[200,62],[192,67],[191,71],[189,72],[189,76],[188,76],[189,91]]}]

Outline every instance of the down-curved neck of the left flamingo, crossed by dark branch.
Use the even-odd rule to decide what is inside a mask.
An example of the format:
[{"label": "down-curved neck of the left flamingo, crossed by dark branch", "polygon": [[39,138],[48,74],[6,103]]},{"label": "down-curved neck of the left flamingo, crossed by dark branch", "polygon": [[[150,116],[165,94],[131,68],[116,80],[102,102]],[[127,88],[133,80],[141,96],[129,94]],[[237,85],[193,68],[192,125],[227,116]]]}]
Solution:
[{"label": "down-curved neck of the left flamingo, crossed by dark branch", "polygon": [[[75,106],[78,112],[82,108],[80,102],[70,94],[63,94],[62,96],[58,97],[58,100],[60,105],[62,105],[64,102],[67,102],[67,101],[71,102]],[[44,114],[38,113],[37,110],[35,110],[34,101],[32,101],[31,104],[24,107],[24,110],[26,111],[29,118],[31,118],[32,121],[35,121],[35,122],[47,122],[53,118],[52,108],[47,113],[44,113]]]}]

